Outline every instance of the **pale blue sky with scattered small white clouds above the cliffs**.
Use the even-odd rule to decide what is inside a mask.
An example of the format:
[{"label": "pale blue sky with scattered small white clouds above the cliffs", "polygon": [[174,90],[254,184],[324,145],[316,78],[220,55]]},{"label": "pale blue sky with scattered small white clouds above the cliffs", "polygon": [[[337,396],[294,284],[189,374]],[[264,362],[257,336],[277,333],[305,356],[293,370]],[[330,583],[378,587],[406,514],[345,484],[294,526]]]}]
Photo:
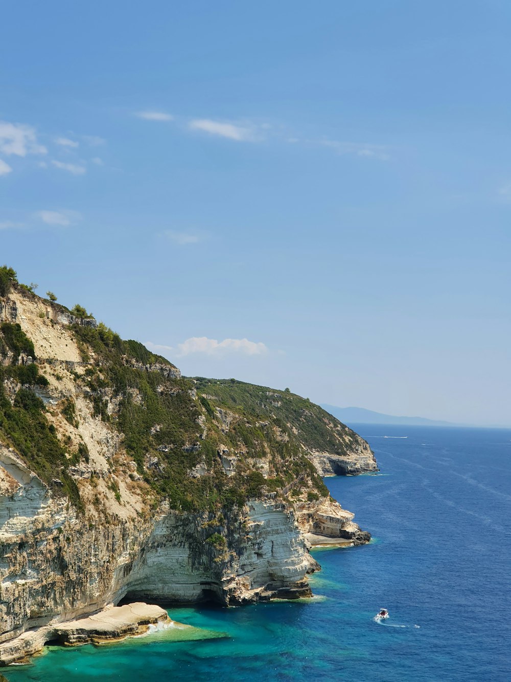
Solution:
[{"label": "pale blue sky with scattered small white clouds above the cliffs", "polygon": [[511,425],[511,4],[18,0],[0,261],[189,376]]}]

